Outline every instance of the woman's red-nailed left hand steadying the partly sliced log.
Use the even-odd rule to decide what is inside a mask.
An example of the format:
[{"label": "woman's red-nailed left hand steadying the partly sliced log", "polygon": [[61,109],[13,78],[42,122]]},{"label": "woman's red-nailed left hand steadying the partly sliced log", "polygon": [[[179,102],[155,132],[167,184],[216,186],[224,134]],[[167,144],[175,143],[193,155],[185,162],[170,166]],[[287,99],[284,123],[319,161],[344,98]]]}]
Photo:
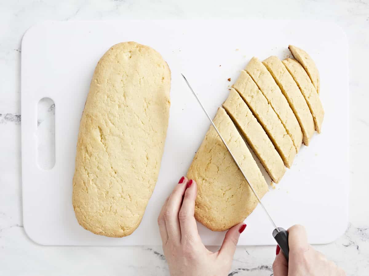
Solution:
[{"label": "woman's red-nailed left hand steadying the partly sliced log", "polygon": [[194,218],[196,194],[196,182],[182,177],[158,217],[170,275],[228,275],[238,237],[246,224],[239,223],[228,230],[219,251],[208,251],[201,242]]}]

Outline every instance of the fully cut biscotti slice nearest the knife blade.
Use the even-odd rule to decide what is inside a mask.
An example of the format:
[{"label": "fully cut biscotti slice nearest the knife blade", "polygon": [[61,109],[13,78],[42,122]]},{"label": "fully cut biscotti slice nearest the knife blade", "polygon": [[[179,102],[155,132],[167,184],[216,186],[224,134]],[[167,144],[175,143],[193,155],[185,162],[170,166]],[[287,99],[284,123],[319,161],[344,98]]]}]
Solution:
[{"label": "fully cut biscotti slice nearest the knife blade", "polygon": [[270,178],[275,183],[278,183],[286,171],[283,160],[274,148],[268,135],[266,135],[263,127],[234,88],[231,88],[230,95],[223,103],[223,107],[235,125],[237,125],[256,156],[258,156]]}]

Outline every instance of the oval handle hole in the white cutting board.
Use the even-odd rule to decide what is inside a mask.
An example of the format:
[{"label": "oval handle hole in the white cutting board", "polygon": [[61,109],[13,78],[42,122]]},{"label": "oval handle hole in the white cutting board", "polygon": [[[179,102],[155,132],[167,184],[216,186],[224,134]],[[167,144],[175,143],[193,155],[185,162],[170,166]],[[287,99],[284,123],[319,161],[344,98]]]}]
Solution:
[{"label": "oval handle hole in the white cutting board", "polygon": [[55,165],[55,103],[50,98],[37,104],[37,164],[43,170]]}]

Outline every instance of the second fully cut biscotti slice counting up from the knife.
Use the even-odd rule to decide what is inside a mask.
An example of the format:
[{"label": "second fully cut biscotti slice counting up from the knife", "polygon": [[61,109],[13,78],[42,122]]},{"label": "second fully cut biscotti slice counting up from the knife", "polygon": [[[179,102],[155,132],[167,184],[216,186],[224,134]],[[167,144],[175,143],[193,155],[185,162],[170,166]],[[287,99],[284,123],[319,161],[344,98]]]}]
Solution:
[{"label": "second fully cut biscotti slice counting up from the knife", "polygon": [[287,168],[290,168],[296,155],[296,148],[282,122],[268,103],[263,93],[245,71],[241,71],[232,87],[258,119]]}]

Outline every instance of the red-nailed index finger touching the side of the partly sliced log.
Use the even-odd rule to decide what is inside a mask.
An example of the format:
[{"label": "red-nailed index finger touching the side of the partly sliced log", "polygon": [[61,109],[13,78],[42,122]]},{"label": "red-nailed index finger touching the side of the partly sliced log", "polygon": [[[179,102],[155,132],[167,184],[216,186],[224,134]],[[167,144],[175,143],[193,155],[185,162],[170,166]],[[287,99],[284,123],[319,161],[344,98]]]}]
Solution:
[{"label": "red-nailed index finger touching the side of the partly sliced log", "polygon": [[182,207],[179,210],[178,219],[181,228],[181,242],[187,240],[199,240],[199,231],[197,230],[195,213],[195,199],[197,195],[197,183],[190,180],[187,183],[186,192],[184,192]]}]

